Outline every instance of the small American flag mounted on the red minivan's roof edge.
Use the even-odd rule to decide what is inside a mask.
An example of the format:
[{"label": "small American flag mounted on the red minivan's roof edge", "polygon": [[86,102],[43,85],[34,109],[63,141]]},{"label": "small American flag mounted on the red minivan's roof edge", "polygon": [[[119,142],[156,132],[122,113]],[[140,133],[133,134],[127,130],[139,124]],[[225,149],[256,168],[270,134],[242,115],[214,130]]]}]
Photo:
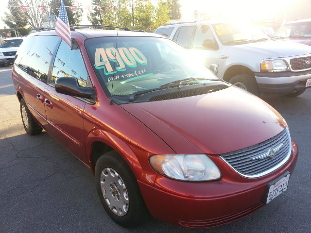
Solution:
[{"label": "small American flag mounted on the red minivan's roof edge", "polygon": [[55,32],[70,46],[71,48],[71,33],[64,2],[60,3],[58,18],[56,21]]}]

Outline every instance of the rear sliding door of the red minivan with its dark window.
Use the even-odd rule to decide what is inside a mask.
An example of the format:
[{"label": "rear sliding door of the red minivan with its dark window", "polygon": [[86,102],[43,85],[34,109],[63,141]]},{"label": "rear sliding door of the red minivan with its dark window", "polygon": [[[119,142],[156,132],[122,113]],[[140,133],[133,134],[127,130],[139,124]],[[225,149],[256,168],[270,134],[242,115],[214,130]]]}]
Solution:
[{"label": "rear sliding door of the red minivan with its dark window", "polygon": [[18,51],[14,75],[20,86],[30,112],[46,128],[46,114],[43,104],[44,88],[53,52],[60,42],[58,36],[40,35],[28,37]]}]

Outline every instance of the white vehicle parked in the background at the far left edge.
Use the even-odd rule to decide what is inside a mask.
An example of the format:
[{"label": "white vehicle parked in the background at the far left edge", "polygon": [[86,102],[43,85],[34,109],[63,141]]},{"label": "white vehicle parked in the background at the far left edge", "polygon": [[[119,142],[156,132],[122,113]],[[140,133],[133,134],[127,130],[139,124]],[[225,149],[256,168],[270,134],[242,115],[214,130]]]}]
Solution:
[{"label": "white vehicle parked in the background at the far left edge", "polygon": [[5,65],[13,65],[15,54],[18,47],[23,42],[20,37],[7,38],[0,44],[0,67]]}]

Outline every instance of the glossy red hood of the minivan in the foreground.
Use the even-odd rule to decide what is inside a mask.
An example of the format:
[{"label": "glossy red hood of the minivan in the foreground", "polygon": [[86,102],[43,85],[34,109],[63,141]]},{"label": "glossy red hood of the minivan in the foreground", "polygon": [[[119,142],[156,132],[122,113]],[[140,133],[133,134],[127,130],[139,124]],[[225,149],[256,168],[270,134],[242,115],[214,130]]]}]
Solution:
[{"label": "glossy red hood of the minivan in the foreground", "polygon": [[180,154],[240,150],[286,127],[269,104],[234,86],[205,95],[120,106]]}]

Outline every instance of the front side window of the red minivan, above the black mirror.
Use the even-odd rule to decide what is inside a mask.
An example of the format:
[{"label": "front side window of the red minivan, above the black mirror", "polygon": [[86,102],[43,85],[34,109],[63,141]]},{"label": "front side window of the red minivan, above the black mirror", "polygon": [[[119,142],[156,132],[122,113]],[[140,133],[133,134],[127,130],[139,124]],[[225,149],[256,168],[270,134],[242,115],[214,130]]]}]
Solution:
[{"label": "front side window of the red minivan, above the black mirror", "polygon": [[76,78],[80,86],[90,86],[90,83],[87,83],[88,75],[80,50],[70,50],[69,45],[64,41],[56,53],[51,83],[54,84],[56,79],[60,77]]}]

